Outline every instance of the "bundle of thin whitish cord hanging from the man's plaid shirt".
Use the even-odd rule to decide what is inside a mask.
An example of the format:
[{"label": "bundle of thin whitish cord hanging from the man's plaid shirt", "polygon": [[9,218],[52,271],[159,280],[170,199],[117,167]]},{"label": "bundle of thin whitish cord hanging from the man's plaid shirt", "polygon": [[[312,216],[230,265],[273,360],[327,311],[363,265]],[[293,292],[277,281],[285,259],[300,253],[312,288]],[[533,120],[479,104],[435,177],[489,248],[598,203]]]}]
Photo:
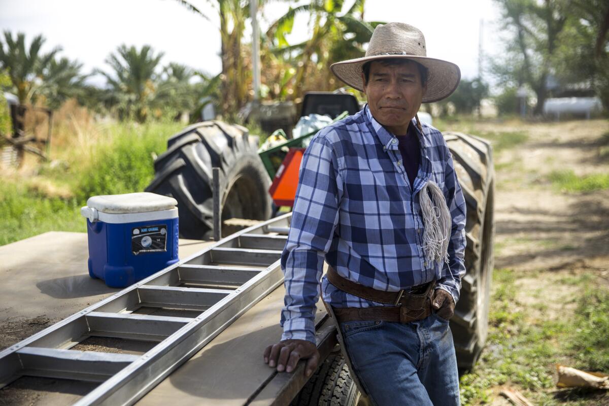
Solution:
[{"label": "bundle of thin whitish cord hanging from the man's plaid shirt", "polygon": [[451,213],[440,187],[431,180],[419,193],[423,212],[423,251],[429,261],[448,264],[448,242],[451,233]]}]

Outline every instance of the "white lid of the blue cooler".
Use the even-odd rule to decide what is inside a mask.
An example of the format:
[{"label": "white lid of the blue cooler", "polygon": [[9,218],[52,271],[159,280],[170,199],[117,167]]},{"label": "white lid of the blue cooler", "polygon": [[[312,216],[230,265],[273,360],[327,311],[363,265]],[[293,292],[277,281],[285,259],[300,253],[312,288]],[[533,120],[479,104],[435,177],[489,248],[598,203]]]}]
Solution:
[{"label": "white lid of the blue cooler", "polygon": [[178,202],[173,197],[139,192],[124,195],[93,196],[86,201],[86,205],[99,212],[128,214],[171,210],[178,205]]}]

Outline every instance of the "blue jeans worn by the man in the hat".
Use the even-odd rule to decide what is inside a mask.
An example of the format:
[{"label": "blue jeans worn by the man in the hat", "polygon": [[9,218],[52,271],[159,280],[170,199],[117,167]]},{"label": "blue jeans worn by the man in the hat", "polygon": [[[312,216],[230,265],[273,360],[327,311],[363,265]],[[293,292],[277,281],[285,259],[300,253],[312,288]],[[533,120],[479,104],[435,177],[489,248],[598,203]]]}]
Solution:
[{"label": "blue jeans worn by the man in the hat", "polygon": [[429,317],[340,323],[351,365],[378,406],[459,405],[459,373],[448,321]]}]

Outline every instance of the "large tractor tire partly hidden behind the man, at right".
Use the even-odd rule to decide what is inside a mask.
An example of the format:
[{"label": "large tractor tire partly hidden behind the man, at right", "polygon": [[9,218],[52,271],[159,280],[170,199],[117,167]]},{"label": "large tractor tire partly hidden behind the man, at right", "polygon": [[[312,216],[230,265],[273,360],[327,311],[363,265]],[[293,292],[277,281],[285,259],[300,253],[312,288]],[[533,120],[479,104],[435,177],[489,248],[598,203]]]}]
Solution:
[{"label": "large tractor tire partly hidden behind the man, at right", "polygon": [[466,274],[450,326],[457,365],[461,370],[469,370],[476,365],[488,334],[495,236],[495,172],[488,141],[461,133],[446,132],[444,136],[467,205]]}]

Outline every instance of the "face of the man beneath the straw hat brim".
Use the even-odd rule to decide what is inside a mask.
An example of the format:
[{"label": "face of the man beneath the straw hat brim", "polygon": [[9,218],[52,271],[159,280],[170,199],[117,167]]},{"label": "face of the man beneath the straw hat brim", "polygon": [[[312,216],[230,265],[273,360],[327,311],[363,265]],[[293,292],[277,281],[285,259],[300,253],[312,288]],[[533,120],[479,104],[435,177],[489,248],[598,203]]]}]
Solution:
[{"label": "face of the man beneath the straw hat brim", "polygon": [[[364,74],[362,73],[362,79]],[[414,62],[384,65],[370,63],[364,93],[370,113],[393,135],[406,135],[412,117],[421,107],[427,86],[421,85],[421,74]]]}]

